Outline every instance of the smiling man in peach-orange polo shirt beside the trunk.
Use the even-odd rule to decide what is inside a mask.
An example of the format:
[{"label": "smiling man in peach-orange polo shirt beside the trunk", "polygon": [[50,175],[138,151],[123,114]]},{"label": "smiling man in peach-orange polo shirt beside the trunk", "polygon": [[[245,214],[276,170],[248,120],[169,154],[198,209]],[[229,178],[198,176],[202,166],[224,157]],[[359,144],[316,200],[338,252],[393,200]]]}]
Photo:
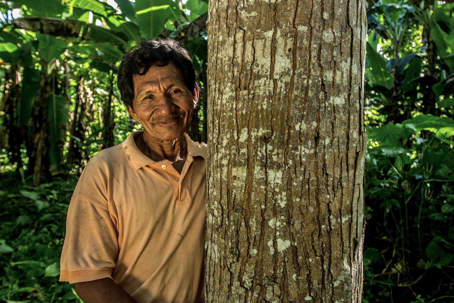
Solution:
[{"label": "smiling man in peach-orange polo shirt beside the trunk", "polygon": [[203,302],[207,147],[185,134],[197,73],[177,42],[141,40],[123,56],[118,88],[143,132],[85,167],[60,281],[85,303]]}]

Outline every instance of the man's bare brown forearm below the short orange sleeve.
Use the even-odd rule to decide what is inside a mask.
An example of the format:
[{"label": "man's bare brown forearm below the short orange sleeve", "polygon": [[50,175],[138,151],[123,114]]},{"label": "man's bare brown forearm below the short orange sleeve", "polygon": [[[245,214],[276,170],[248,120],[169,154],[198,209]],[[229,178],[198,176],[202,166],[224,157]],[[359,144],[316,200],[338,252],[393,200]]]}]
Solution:
[{"label": "man's bare brown forearm below the short orange sleeve", "polygon": [[137,303],[111,278],[74,283],[74,290],[84,303]]}]

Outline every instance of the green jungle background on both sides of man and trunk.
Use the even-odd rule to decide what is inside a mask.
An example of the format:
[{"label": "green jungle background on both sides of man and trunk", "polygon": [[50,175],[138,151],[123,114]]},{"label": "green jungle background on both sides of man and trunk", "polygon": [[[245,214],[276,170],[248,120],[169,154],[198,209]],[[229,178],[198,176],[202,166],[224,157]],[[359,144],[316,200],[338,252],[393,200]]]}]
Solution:
[{"label": "green jungle background on both sides of man and trunk", "polygon": [[[365,303],[454,302],[454,0],[368,0]],[[140,129],[116,89],[140,37],[179,40],[202,86],[207,0],[0,1],[0,301],[80,302],[59,283],[70,196]],[[50,168],[50,169],[49,169]]]}]

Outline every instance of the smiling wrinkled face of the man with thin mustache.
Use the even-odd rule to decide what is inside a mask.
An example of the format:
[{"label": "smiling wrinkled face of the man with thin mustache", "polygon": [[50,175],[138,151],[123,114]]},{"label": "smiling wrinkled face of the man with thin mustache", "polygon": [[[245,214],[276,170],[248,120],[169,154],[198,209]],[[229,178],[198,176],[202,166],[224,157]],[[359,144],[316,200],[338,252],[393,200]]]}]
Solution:
[{"label": "smiling wrinkled face of the man with thin mustache", "polygon": [[135,75],[133,82],[134,109],[128,107],[128,113],[140,121],[144,136],[155,143],[182,139],[197,104],[197,89],[192,95],[171,62],[150,67],[145,75]]}]

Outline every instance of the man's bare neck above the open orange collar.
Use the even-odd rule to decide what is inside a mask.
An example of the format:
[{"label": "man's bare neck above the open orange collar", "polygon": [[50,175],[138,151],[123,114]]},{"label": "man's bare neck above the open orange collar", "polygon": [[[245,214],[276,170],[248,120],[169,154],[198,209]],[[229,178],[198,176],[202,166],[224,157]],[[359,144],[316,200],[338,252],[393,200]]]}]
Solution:
[{"label": "man's bare neck above the open orange collar", "polygon": [[169,160],[170,163],[174,163],[178,160],[186,159],[186,155],[188,154],[186,140],[183,136],[180,139],[157,143],[152,140],[147,140],[147,138],[141,134],[135,139],[135,143],[142,154],[155,162]]}]

